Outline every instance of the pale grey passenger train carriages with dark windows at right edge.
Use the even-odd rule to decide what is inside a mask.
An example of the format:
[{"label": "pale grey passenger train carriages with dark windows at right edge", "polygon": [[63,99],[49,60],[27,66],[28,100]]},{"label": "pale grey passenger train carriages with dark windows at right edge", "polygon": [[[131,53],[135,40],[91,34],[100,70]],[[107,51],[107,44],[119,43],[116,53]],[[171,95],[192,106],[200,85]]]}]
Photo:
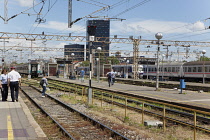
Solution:
[{"label": "pale grey passenger train carriages with dark windows at right edge", "polygon": [[[143,66],[144,79],[156,79],[157,65]],[[171,62],[159,64],[160,80],[179,80],[200,82],[203,78],[210,80],[210,61]]]}]

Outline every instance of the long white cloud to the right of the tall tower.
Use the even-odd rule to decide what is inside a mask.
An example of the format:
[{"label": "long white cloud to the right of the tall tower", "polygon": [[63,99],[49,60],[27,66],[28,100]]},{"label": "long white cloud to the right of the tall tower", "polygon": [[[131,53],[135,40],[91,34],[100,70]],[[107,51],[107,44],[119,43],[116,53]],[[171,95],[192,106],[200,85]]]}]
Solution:
[{"label": "long white cloud to the right of the tall tower", "polygon": [[111,34],[144,35],[164,32],[167,34],[180,34],[205,29],[204,23],[194,24],[177,21],[158,21],[132,19],[123,22],[112,22]]}]

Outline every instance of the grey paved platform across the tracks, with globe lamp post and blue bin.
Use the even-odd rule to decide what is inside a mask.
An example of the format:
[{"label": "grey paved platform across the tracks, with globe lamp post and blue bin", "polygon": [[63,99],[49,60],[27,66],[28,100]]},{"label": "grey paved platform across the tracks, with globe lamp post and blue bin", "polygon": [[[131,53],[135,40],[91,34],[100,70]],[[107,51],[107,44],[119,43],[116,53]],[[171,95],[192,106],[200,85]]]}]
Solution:
[{"label": "grey paved platform across the tracks, with globe lamp post and blue bin", "polygon": [[[85,79],[85,82],[82,83],[80,80],[70,80],[64,78],[56,78],[56,77],[49,77],[52,79],[57,80],[64,80],[71,83],[77,84],[84,84],[86,86],[89,85],[89,80]],[[108,82],[100,81],[97,82],[95,80],[91,80],[92,87],[100,87],[104,89],[110,89],[113,91],[121,91],[125,93],[132,93],[136,95],[141,95],[144,97],[150,97],[154,99],[161,99],[171,102],[180,102],[189,105],[200,106],[204,108],[210,109],[210,93],[208,92],[201,92],[198,91],[189,91],[183,90],[184,94],[179,94],[179,89],[167,89],[167,88],[160,88],[160,91],[156,91],[155,87],[146,87],[146,86],[136,86],[136,85],[128,85],[128,84],[120,84],[115,83],[113,86],[109,87]]]}]

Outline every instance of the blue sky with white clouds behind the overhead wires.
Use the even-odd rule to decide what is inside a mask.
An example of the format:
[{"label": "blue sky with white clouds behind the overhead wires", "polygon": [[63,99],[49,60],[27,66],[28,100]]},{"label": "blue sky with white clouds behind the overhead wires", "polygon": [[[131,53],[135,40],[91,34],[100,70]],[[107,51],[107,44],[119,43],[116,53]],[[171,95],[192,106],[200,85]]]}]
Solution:
[{"label": "blue sky with white clouds behind the overhead wires", "polygon": [[[209,0],[72,0],[72,20],[82,18],[68,28],[68,0],[8,0],[7,17],[14,15],[7,24],[4,23],[4,0],[0,1],[0,32],[85,36],[86,21],[92,19],[110,19],[110,37],[128,38],[133,36],[142,39],[155,40],[155,34],[160,32],[162,40],[174,41],[202,41],[210,42],[210,1]],[[100,10],[106,7],[104,10]],[[98,12],[95,12],[98,11]],[[40,14],[39,14],[40,13]],[[38,15],[39,14],[39,15]],[[88,18],[88,17],[96,18]],[[36,22],[42,19],[42,22]],[[123,19],[123,20],[121,20]],[[124,20],[125,19],[125,20]],[[3,41],[3,40],[0,40]],[[27,61],[30,51],[14,51],[9,46],[30,47],[26,40],[9,39],[6,42],[6,61]],[[75,42],[65,41],[34,41],[33,47],[63,48],[65,44]],[[85,42],[76,42],[85,44]],[[0,42],[1,50],[3,42]],[[18,48],[17,47],[17,48]],[[132,56],[132,44],[111,43],[111,50],[122,50],[124,56]],[[139,46],[140,55],[155,57],[157,45]],[[186,48],[181,46],[169,47],[171,61],[194,60],[201,56],[202,50],[208,47],[190,47],[189,57]],[[124,52],[127,53],[124,53]],[[161,46],[161,54],[166,49]],[[178,55],[178,52],[179,55]],[[3,54],[3,52],[2,52]],[[63,57],[62,52],[33,51],[33,58]],[[163,55],[164,59],[164,55]]]}]

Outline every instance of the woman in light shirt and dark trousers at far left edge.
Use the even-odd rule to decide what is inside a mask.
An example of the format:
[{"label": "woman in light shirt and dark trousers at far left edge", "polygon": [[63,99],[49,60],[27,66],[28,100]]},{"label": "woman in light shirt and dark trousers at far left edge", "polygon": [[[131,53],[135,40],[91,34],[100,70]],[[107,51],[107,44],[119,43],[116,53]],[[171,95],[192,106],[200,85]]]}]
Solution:
[{"label": "woman in light shirt and dark trousers at far left edge", "polygon": [[0,88],[1,88],[1,94],[2,94],[2,101],[7,101],[7,97],[8,97],[7,79],[8,79],[7,70],[3,69],[0,76],[0,81],[1,81]]}]

